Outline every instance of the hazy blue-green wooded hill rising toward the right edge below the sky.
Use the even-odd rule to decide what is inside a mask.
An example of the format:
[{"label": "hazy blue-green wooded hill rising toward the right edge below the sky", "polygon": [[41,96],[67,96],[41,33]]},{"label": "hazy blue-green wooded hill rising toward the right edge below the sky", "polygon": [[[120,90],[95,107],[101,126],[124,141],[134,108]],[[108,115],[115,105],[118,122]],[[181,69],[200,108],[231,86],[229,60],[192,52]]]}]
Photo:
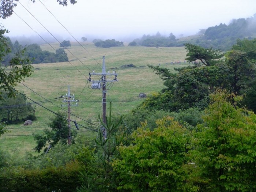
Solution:
[{"label": "hazy blue-green wooded hill rising toward the right edge below the sky", "polygon": [[237,39],[256,38],[256,14],[250,18],[233,19],[229,25],[219,25],[200,30],[198,34],[176,39],[170,33],[169,37],[156,35],[143,35],[142,38],[134,39],[130,46],[183,46],[189,42],[205,48],[213,47],[223,51],[229,50],[236,43]]}]

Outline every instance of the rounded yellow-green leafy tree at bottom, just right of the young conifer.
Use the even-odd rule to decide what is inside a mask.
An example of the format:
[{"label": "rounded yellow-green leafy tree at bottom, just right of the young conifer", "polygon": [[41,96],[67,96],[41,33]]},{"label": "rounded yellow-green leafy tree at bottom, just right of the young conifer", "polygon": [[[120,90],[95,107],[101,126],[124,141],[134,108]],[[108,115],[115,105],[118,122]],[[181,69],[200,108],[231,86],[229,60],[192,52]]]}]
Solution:
[{"label": "rounded yellow-green leafy tree at bottom, just right of the young conifer", "polygon": [[[120,158],[113,161],[118,173],[117,189],[125,191],[193,191],[184,164],[189,162],[186,146],[189,136],[171,117],[157,121],[154,131],[133,132],[132,144],[118,148]],[[188,191],[189,191],[188,190]]]}]

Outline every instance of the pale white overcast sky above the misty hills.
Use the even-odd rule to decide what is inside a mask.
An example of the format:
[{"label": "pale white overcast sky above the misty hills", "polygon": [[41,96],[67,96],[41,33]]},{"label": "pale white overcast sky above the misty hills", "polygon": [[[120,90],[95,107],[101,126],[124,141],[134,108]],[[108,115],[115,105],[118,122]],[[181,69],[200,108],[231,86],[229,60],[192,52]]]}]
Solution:
[{"label": "pale white overcast sky above the misty hills", "polygon": [[[256,0],[77,0],[67,7],[57,0],[20,3],[50,33],[69,39],[71,35],[61,23],[78,40],[93,36],[123,41],[125,37],[138,38],[158,31],[166,36],[173,33],[178,38],[180,34],[196,34],[199,29],[256,14]],[[15,13],[1,19],[5,29],[11,31],[8,36],[37,35],[31,28],[42,36],[48,34],[20,3],[14,11],[24,21]]]}]

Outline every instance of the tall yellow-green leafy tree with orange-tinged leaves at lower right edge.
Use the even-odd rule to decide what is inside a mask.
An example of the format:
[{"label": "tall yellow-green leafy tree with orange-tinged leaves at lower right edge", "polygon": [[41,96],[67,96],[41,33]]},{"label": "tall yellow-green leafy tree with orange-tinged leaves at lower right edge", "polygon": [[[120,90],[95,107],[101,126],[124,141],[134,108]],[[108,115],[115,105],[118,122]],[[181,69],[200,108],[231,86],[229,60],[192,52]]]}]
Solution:
[{"label": "tall yellow-green leafy tree with orange-tinged leaves at lower right edge", "polygon": [[218,90],[197,126],[192,151],[207,191],[256,190],[256,115],[238,108],[241,97]]}]

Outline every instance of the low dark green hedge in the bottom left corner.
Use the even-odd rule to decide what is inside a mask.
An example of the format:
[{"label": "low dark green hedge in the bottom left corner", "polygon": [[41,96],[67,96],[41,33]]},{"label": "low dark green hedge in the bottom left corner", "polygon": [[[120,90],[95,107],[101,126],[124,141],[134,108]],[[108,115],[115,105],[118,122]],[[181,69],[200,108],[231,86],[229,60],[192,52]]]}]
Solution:
[{"label": "low dark green hedge in the bottom left corner", "polygon": [[71,162],[61,167],[48,167],[41,170],[24,170],[21,167],[1,169],[0,191],[65,191],[73,192],[81,185],[78,180],[82,166]]}]

